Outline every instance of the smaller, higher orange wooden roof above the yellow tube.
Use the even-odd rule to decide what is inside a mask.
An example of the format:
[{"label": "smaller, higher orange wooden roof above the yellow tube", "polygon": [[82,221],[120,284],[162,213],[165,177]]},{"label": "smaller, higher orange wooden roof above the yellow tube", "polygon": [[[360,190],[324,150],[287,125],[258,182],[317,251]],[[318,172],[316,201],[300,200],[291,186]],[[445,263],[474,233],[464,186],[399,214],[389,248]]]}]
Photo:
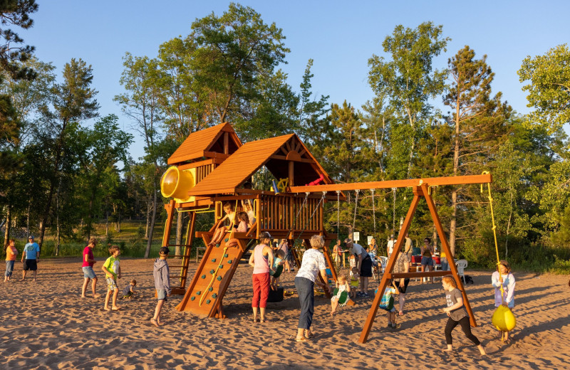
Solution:
[{"label": "smaller, higher orange wooden roof above the yellow tube", "polygon": [[[226,132],[228,133],[227,145],[224,142],[224,133]],[[207,129],[192,132],[182,142],[180,147],[172,153],[167,163],[172,165],[202,159],[202,157],[211,158],[215,156],[215,153],[232,154],[241,146],[242,142],[237,137],[232,125],[221,123]]]}]

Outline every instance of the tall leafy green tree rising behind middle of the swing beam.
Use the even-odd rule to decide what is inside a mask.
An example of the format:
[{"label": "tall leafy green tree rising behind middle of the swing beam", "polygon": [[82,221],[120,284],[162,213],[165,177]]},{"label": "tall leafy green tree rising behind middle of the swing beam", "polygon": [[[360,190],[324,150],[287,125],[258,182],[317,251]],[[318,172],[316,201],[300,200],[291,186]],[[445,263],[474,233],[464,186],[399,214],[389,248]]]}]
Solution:
[{"label": "tall leafy green tree rising behind middle of the swing beam", "polygon": [[391,60],[375,55],[368,60],[371,88],[378,97],[387,96],[400,120],[408,122],[409,131],[393,137],[409,148],[408,177],[418,136],[432,110],[428,100],[444,88],[447,71],[433,70],[432,59],[445,51],[447,41],[450,38],[442,37],[442,26],[432,22],[421,23],[415,29],[398,25],[382,43]]}]

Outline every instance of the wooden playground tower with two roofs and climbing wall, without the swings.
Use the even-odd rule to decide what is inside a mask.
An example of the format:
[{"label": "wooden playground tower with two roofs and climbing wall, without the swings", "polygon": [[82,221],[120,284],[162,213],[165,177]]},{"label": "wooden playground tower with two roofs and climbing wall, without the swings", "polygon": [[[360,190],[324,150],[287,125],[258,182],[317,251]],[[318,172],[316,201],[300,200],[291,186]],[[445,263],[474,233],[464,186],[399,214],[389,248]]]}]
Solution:
[{"label": "wooden playground tower with two roofs and climbing wall, without the swings", "polygon": [[[172,281],[180,282],[173,287],[172,294],[184,295],[177,310],[207,317],[224,317],[222,300],[239,260],[254,246],[259,233],[264,231],[269,231],[274,238],[289,240],[298,265],[299,253],[294,240],[305,240],[309,245],[310,236],[323,236],[326,242],[323,252],[336,280],[328,245],[337,236],[326,233],[323,226],[323,203],[336,200],[336,194],[292,194],[279,193],[279,189],[244,189],[244,184],[251,181],[252,175],[264,166],[276,179],[285,179],[281,184],[285,181],[289,186],[309,184],[316,179],[324,184],[333,184],[296,134],[242,145],[232,126],[224,123],[190,134],[168,159],[168,164],[170,168],[161,179],[161,191],[163,196],[172,199],[165,205],[167,220],[162,245],[184,248],[181,255],[172,255],[182,258],[182,265],[171,266],[172,271],[180,271],[180,275],[171,276]],[[222,203],[232,203],[238,212],[243,211],[242,201],[251,201],[254,206],[256,222],[252,228],[246,233],[232,231],[221,243],[208,245],[214,228],[209,231],[195,230],[197,213],[213,211],[215,225],[223,216]],[[180,245],[170,243],[172,221],[177,212],[188,212],[190,216],[185,243]],[[190,250],[196,237],[204,240],[206,250],[194,277],[187,284]],[[325,294],[330,296],[328,292]]]}]

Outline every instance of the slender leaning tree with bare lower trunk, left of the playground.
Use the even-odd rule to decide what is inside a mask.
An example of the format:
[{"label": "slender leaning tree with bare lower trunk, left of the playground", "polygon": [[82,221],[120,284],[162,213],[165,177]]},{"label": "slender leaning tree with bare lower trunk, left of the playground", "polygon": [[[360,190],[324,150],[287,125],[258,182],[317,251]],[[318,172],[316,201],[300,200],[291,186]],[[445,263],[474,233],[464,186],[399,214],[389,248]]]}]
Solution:
[{"label": "slender leaning tree with bare lower trunk, left of the playground", "polygon": [[[50,186],[40,227],[40,245],[43,243],[53,194],[56,186],[60,184],[62,156],[68,144],[68,125],[71,122],[81,122],[98,115],[99,105],[95,100],[97,91],[90,88],[92,81],[91,66],[81,59],[71,59],[71,62],[63,68],[63,83],[53,85],[51,88],[53,110],[48,105],[43,105],[40,110],[43,122],[42,134],[51,139],[52,147],[49,154],[53,159],[53,164],[50,166]],[[58,189],[60,189],[59,186]]]}]

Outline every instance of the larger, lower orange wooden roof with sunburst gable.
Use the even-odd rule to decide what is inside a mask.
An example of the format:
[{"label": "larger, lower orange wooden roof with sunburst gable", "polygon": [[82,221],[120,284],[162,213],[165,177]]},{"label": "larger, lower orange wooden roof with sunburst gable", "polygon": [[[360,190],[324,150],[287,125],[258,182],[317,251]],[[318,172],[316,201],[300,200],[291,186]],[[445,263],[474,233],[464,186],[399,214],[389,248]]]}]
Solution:
[{"label": "larger, lower orange wooden roof with sunburst gable", "polygon": [[192,190],[190,196],[234,193],[261,166],[276,179],[289,177],[289,162],[294,162],[295,184],[308,184],[323,175],[323,184],[332,179],[316,161],[296,134],[248,142],[239,147]]}]

